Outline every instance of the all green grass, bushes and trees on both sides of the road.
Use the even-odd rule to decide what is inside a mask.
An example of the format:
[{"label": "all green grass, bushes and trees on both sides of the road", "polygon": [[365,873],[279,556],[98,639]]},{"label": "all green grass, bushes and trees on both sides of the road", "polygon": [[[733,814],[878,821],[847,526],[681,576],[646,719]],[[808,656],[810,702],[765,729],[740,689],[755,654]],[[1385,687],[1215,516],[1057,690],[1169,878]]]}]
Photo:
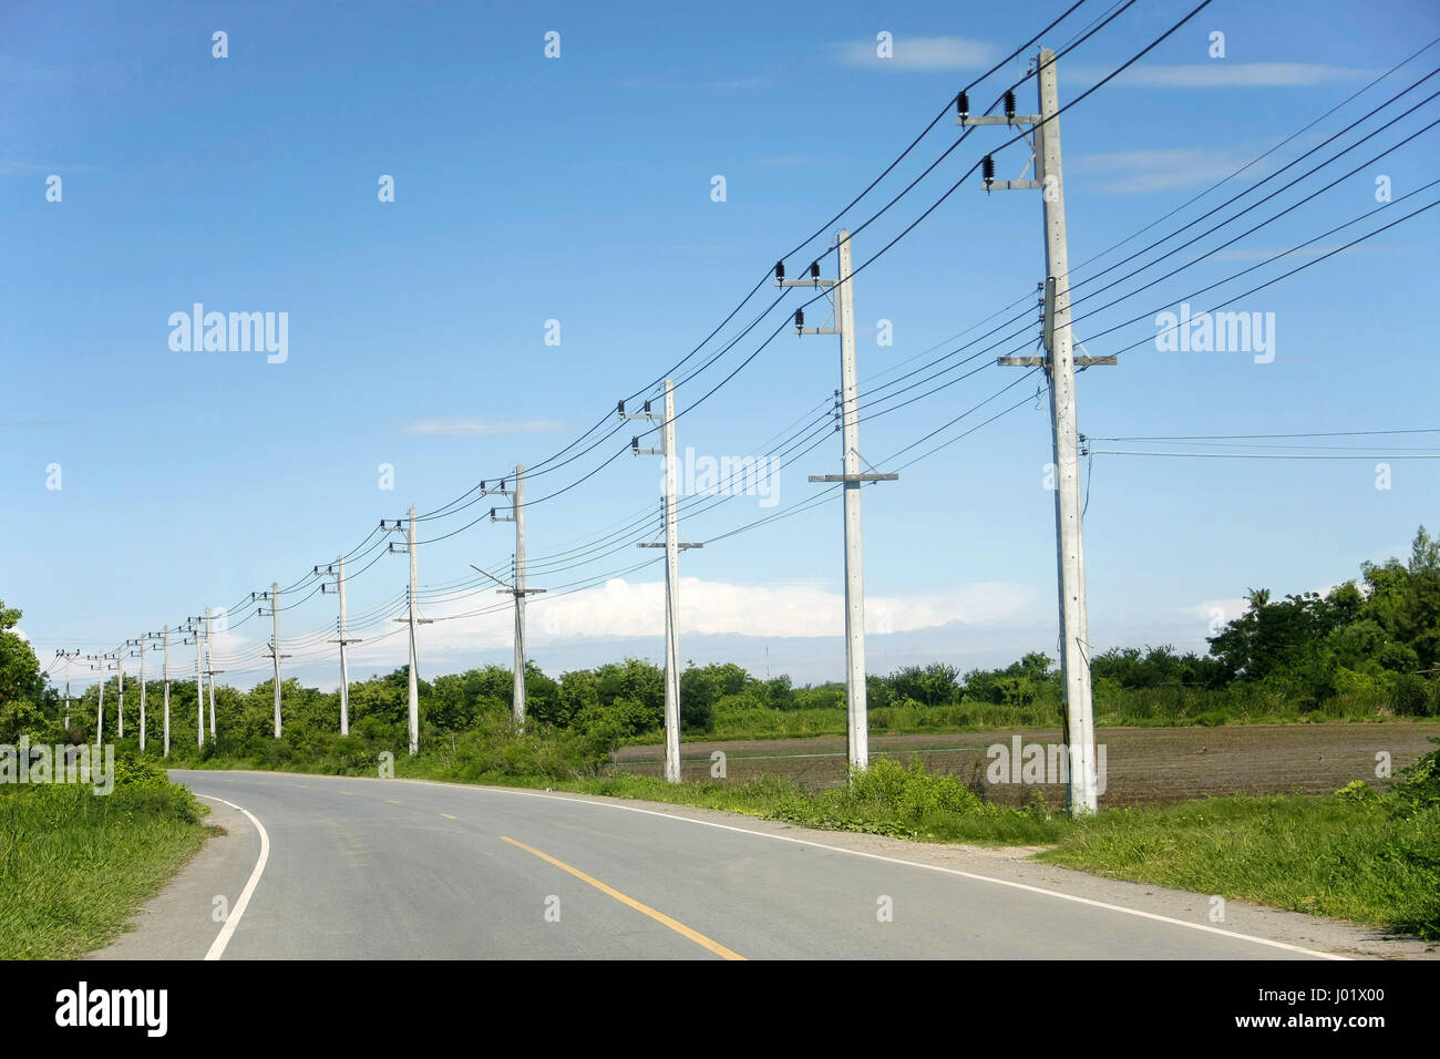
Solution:
[{"label": "all green grass, bushes and trees on both sides of the road", "polygon": [[[1408,563],[1367,563],[1361,572],[1359,584],[1323,596],[1276,601],[1253,589],[1248,609],[1210,638],[1205,656],[1148,647],[1094,657],[1097,722],[1440,716],[1440,542],[1421,527]],[[9,631],[17,618],[0,604],[0,743],[94,739],[96,690],[72,705],[66,728],[33,651]],[[400,777],[674,801],[920,840],[1050,846],[1044,856],[1054,863],[1440,937],[1433,752],[1384,792],[1352,785],[1326,797],[1215,798],[1071,821],[1053,814],[1038,794],[1028,808],[999,807],[984,787],[929,774],[919,762],[876,759],[850,785],[824,791],[775,777],[670,785],[612,775],[618,748],[660,738],[660,669],[628,658],[556,679],[531,664],[524,729],[510,719],[511,683],[510,671],[495,666],[420,682],[420,754],[409,758],[405,669],[350,686],[346,736],[337,732],[337,692],[287,680],[285,735],[275,739],[269,682],[249,692],[217,687],[219,738],[207,738],[204,748],[196,746],[194,683],[173,682],[171,756],[164,764],[376,775],[389,754]],[[115,745],[134,778],[114,795],[0,790],[0,955],[82,952],[112,937],[202,840],[194,803],[174,794],[157,768],[160,683],[148,684],[148,767],[138,761],[134,682],[127,692],[127,738]],[[107,735],[117,693],[111,687],[107,694]],[[871,730],[1056,728],[1060,694],[1058,674],[1043,654],[963,677],[943,664],[903,669],[870,677]],[[835,735],[844,718],[840,684],[795,687],[788,677],[759,680],[734,664],[691,664],[681,676],[687,739]]]}]

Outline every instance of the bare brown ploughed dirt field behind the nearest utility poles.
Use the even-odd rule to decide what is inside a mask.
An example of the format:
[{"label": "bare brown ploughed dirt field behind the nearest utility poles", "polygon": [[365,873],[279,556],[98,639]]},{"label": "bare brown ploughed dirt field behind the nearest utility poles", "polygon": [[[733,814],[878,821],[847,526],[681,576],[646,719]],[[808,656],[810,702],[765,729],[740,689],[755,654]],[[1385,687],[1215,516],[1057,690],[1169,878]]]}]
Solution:
[{"label": "bare brown ploughed dirt field behind the nearest utility poles", "polygon": [[[959,732],[955,735],[871,736],[871,758],[887,754],[909,761],[913,754],[932,771],[949,772],[988,798],[1004,805],[1024,804],[1040,790],[1058,807],[1061,784],[1022,782],[1012,768],[1008,784],[986,781],[991,758],[986,749],[1004,745],[1060,743],[1056,729]],[[1164,805],[1187,798],[1220,794],[1322,794],[1352,779],[1384,787],[1377,778],[1375,755],[1390,754],[1398,771],[1433,749],[1427,742],[1440,736],[1440,722],[1387,722],[1374,725],[1234,725],[1220,728],[1102,728],[1104,748],[1103,807]],[[788,775],[802,787],[821,788],[844,779],[844,736],[814,739],[756,739],[747,742],[685,742],[681,745],[687,779],[706,779],[711,754],[726,755],[726,777],[746,782],[762,775]],[[626,746],[615,754],[616,771],[638,775],[661,774],[660,746]],[[1022,752],[1024,756],[1024,752]]]}]

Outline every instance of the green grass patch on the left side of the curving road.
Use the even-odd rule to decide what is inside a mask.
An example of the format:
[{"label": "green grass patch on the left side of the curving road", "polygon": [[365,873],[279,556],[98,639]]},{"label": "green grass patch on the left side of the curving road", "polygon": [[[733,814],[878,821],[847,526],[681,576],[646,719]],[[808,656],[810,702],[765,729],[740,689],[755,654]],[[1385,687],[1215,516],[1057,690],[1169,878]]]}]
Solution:
[{"label": "green grass patch on the left side of the curving road", "polygon": [[101,948],[204,843],[189,791],[144,767],[117,771],[108,795],[81,784],[0,790],[0,960]]}]

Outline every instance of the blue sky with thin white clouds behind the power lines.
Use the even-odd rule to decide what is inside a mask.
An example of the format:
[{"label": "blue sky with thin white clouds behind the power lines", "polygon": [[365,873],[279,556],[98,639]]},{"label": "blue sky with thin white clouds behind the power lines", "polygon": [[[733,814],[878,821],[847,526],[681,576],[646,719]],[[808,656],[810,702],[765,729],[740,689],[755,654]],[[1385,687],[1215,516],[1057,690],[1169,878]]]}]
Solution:
[{"label": "blue sky with thin white clouds behind the power lines", "polygon": [[[108,650],[272,581],[288,586],[312,563],[353,548],[382,517],[400,517],[410,504],[438,509],[482,477],[540,463],[688,353],[958,88],[1064,6],[903,3],[877,13],[861,3],[824,12],[426,3],[400,14],[366,3],[7,4],[0,13],[0,238],[9,251],[0,256],[0,504],[10,543],[0,598],[24,609],[22,628],[42,658],[59,647]],[[1139,0],[1061,59],[1061,101],[1192,6]],[[1090,0],[1044,43],[1064,46],[1107,9]],[[212,53],[216,30],[228,35],[226,58]],[[544,55],[552,30],[560,35],[559,58]],[[1210,56],[1217,30],[1224,58]],[[893,37],[888,59],[876,53],[881,32]],[[1440,45],[1143,238],[1079,267],[1437,36],[1440,10],[1430,3],[1215,0],[1063,115],[1073,281],[1260,183],[1434,71]],[[971,92],[976,111],[1025,73],[1025,58]],[[1077,301],[1076,330],[1089,352],[1126,350],[1119,366],[1080,377],[1081,431],[1107,438],[1440,426],[1427,313],[1440,209],[1231,305],[1273,320],[1269,363],[1248,352],[1161,352],[1153,343],[1158,310],[1377,210],[1377,177],[1390,179],[1394,199],[1433,180],[1434,130],[1310,197],[1440,118],[1440,101],[1421,105],[1437,82],[1083,288],[1123,277],[1382,130],[1162,265],[1089,305]],[[1018,95],[1021,111],[1035,107],[1032,81]],[[857,228],[888,202],[958,131],[952,117],[940,120],[876,192],[789,258],[791,274],[828,249],[842,223]],[[855,236],[857,264],[1007,138],[976,130]],[[1027,154],[1020,146],[998,153],[998,174],[1020,176]],[[62,182],[59,202],[46,197],[52,174]],[[382,176],[393,177],[393,202],[379,200]],[[716,176],[724,177],[723,202],[713,200]],[[1319,239],[1308,256],[1200,295],[1194,308],[1436,197],[1431,187],[1394,202]],[[1215,258],[1084,317],[1296,202],[1303,205]],[[855,280],[863,401],[1021,313],[1043,278],[1041,236],[1038,193],[986,196],[972,176],[868,265]],[[834,255],[825,271],[832,274]],[[773,297],[766,285],[684,370],[719,352]],[[1020,308],[991,318],[1017,301]],[[206,311],[285,313],[284,363],[255,352],[173,350],[168,320],[194,303]],[[838,386],[838,340],[789,331],[685,412],[795,304],[792,292],[677,390],[681,448],[697,457],[763,455],[766,442],[824,415]],[[824,316],[812,305],[808,323]],[[546,344],[552,320],[557,346]],[[893,344],[880,344],[886,330]],[[1027,331],[960,370],[1032,346]],[[1017,379],[1018,369],[991,366],[867,421],[861,451],[891,470],[1034,395],[1034,376]],[[1015,386],[981,411],[886,463],[1008,383]],[[605,463],[631,432],[530,483],[531,556],[543,560],[658,511],[660,461],[628,454],[563,496],[541,499]],[[1266,451],[1437,451],[1423,448],[1427,442],[1436,435],[1277,439],[1354,448]],[[1096,442],[1122,447],[1179,448]],[[1247,450],[1225,442],[1205,451]],[[683,537],[711,540],[805,501],[816,488],[806,475],[837,470],[838,458],[838,437],[825,439],[776,471],[775,507],[736,496],[694,517],[687,510]],[[1045,402],[1032,399],[907,467],[899,483],[865,490],[873,671],[930,658],[992,664],[1034,648],[1054,654],[1050,458]],[[1248,586],[1323,588],[1355,576],[1362,559],[1403,553],[1417,524],[1440,524],[1440,471],[1433,460],[1390,458],[1388,488],[1377,488],[1378,461],[1096,455],[1086,513],[1096,647],[1202,648],[1214,612],[1234,617]],[[56,484],[52,464],[59,488],[48,487]],[[393,488],[380,487],[382,464],[393,467]],[[425,522],[419,539],[459,530],[482,511],[488,503]],[[635,539],[616,537],[611,555],[541,562],[531,582],[603,582],[658,555],[634,549]],[[451,598],[426,598],[426,614],[448,620],[425,628],[422,671],[508,664],[508,615],[459,615],[504,602],[469,563],[500,572],[511,549],[511,527],[488,517],[419,549],[422,586],[456,585]],[[572,565],[586,558],[588,565]],[[405,657],[400,627],[390,621],[397,609],[386,607],[405,588],[405,558],[369,550],[359,565],[370,559],[350,584],[351,615],[373,611],[373,624],[357,631],[369,641],[357,648],[359,676]],[[776,670],[799,679],[841,676],[837,500],[714,540],[681,565],[685,657],[763,670],[768,650]],[[559,671],[624,653],[658,658],[660,576],[648,568],[537,602],[537,661]],[[294,641],[294,671],[328,686],[336,666],[324,633],[334,624],[334,599],[302,601],[311,588],[282,596],[292,609],[281,615],[281,637]],[[232,615],[235,628],[216,650],[230,679],[246,684],[266,676],[256,645],[269,621],[240,625],[240,617]]]}]

